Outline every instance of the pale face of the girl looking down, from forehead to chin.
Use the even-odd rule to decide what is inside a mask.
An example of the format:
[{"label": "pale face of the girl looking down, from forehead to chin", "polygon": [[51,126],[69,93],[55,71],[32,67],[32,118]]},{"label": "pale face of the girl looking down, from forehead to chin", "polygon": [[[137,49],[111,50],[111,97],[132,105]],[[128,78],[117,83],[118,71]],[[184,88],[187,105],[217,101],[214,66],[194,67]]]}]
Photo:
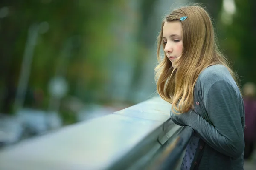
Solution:
[{"label": "pale face of the girl looking down, from forehead to chin", "polygon": [[165,45],[166,56],[172,62],[172,66],[175,67],[175,62],[180,58],[183,50],[180,21],[166,22],[163,25],[163,44]]}]

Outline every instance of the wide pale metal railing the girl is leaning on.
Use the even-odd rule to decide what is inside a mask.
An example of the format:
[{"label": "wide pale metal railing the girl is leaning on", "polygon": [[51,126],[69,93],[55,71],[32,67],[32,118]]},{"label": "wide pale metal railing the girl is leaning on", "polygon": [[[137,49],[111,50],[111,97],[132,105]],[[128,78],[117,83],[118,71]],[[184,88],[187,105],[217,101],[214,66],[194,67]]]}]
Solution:
[{"label": "wide pale metal railing the girl is leaning on", "polygon": [[156,97],[28,139],[0,151],[0,169],[175,170],[193,130],[170,108]]}]

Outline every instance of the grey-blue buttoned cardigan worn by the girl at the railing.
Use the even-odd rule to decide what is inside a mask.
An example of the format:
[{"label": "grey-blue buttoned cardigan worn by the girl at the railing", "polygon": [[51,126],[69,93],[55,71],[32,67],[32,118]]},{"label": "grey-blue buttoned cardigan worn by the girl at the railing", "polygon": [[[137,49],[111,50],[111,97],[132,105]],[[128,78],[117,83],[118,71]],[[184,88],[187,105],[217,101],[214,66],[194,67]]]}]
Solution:
[{"label": "grey-blue buttoned cardigan worn by the girl at the railing", "polygon": [[243,170],[244,102],[224,65],[212,65],[201,72],[194,88],[194,106],[187,113],[170,112],[177,125],[194,129],[189,145],[196,141],[197,146],[189,169]]}]

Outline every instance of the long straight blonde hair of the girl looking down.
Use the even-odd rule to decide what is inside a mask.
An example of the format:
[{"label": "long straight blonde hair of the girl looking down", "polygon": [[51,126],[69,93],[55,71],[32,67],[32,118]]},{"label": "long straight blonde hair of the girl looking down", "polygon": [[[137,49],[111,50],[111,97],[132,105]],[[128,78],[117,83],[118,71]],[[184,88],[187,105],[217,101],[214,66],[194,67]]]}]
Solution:
[{"label": "long straight blonde hair of the girl looking down", "polygon": [[[180,21],[183,34],[183,52],[175,63],[177,67],[174,68],[166,54],[162,58],[160,56],[161,46],[163,49],[165,48],[163,26],[166,22],[177,21],[183,16],[188,17],[186,20]],[[175,9],[164,18],[157,38],[159,64],[155,68],[155,80],[158,94],[172,104],[172,111],[175,109],[184,113],[193,108],[196,80],[201,71],[210,65],[226,66],[238,85],[236,74],[219,51],[216,42],[211,18],[207,11],[198,4]]]}]

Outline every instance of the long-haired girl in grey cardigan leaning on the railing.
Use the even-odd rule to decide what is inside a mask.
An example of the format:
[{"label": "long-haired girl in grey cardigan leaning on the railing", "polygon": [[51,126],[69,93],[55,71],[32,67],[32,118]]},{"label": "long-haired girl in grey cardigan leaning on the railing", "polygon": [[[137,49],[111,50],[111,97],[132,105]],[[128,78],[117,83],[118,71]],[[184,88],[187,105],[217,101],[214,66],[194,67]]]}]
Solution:
[{"label": "long-haired girl in grey cardigan leaning on the railing", "polygon": [[158,94],[172,104],[172,121],[195,132],[181,169],[242,170],[243,99],[236,74],[218,50],[207,11],[193,5],[167,15],[158,37],[157,58]]}]

